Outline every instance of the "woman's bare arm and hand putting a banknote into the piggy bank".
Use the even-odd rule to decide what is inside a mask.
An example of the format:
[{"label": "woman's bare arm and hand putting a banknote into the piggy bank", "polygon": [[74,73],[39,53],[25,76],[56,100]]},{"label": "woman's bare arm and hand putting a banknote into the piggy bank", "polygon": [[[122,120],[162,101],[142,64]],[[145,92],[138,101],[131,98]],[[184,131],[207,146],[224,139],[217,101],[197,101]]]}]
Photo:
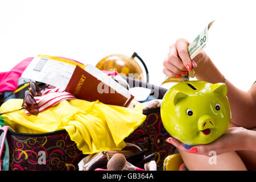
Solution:
[{"label": "woman's bare arm and hand putting a banknote into the piggy bank", "polygon": [[228,80],[224,80],[222,73],[204,51],[191,61],[187,51],[188,44],[187,40],[178,39],[170,46],[170,52],[163,62],[163,72],[169,77],[177,77],[184,71],[194,68],[197,80],[211,83],[225,82],[228,86],[232,122],[246,129],[256,127],[256,84],[248,92],[238,89]]}]

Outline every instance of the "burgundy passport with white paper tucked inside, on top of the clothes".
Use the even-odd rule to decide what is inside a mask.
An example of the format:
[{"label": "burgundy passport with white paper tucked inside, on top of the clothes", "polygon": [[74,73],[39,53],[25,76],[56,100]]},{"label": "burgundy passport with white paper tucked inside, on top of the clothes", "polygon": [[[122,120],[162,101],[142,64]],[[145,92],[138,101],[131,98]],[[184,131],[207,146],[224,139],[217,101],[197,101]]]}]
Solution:
[{"label": "burgundy passport with white paper tucked inside, on top of the clothes", "polygon": [[85,69],[76,66],[65,91],[82,100],[125,107],[134,98],[129,90],[90,64]]}]

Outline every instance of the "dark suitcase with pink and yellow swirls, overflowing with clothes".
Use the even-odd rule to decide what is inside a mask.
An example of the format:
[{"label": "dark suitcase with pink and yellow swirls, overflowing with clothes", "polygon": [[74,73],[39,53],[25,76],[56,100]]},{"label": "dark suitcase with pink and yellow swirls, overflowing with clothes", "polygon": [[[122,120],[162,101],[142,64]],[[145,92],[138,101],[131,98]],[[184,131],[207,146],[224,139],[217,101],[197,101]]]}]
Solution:
[{"label": "dark suitcase with pink and yellow swirls, overflowing with clothes", "polygon": [[[129,79],[127,78],[127,80]],[[129,85],[131,87],[139,85],[151,88],[151,96],[155,95],[156,89],[159,89],[158,97],[155,97],[158,99],[161,99],[167,91],[134,79],[130,81]],[[144,111],[143,114],[147,115],[146,120],[125,141],[137,144],[143,150],[146,150],[145,155],[156,154],[155,160],[158,170],[162,170],[164,159],[172,154],[175,148],[165,141],[170,135],[162,125],[160,108]],[[6,138],[9,143],[9,170],[11,171],[73,171],[79,169],[78,163],[86,156],[77,148],[76,143],[70,139],[65,130],[42,134],[8,131]],[[3,162],[3,156],[4,154],[1,156],[1,163]]]}]

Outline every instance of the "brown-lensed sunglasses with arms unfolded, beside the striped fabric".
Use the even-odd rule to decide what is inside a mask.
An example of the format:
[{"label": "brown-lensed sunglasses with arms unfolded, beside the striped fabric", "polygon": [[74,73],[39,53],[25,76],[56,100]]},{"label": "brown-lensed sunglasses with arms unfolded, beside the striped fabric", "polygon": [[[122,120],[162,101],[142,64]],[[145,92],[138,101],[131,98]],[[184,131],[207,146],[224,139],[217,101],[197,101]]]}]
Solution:
[{"label": "brown-lensed sunglasses with arms unfolded, beside the striped fabric", "polygon": [[35,100],[34,97],[35,96],[42,96],[42,93],[39,89],[39,86],[34,81],[30,81],[27,84],[23,85],[22,87],[18,88],[13,93],[11,93],[8,96],[6,96],[5,98],[3,98],[1,100],[1,102],[6,100],[6,98],[10,97],[11,95],[13,95],[13,94],[19,92],[20,90],[26,88],[27,86],[29,86],[29,87],[28,87],[28,90],[24,93],[22,107],[20,109],[16,109],[16,110],[12,110],[12,111],[6,111],[5,113],[0,113],[0,115],[12,113],[14,111],[18,111],[18,110],[22,110],[22,109],[26,109],[32,115],[37,115],[39,113],[38,104],[36,103],[36,100]]}]

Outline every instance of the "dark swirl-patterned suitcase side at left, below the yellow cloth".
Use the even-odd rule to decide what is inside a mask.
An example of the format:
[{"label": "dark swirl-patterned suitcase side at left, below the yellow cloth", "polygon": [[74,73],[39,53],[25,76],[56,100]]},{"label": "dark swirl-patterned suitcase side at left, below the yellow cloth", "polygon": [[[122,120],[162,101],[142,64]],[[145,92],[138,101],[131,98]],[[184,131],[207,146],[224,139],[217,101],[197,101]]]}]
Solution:
[{"label": "dark swirl-patterned suitcase side at left, below the yellow cloth", "polygon": [[9,171],[75,171],[86,156],[65,130],[42,134],[9,130],[6,138],[10,150]]}]

